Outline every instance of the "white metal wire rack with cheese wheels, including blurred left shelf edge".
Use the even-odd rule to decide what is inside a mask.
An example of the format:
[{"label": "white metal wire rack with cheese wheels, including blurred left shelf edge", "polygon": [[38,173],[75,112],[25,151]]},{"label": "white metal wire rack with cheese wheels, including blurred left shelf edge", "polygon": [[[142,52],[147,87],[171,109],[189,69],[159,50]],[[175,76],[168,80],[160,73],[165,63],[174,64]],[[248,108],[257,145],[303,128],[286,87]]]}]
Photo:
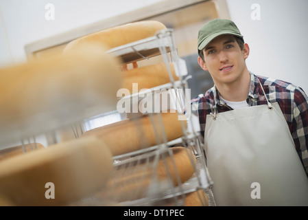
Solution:
[{"label": "white metal wire rack with cheese wheels, including blurred left shelf edge", "polygon": [[[143,59],[150,59],[154,56],[162,56],[163,61],[168,69],[169,77],[170,77],[170,83],[167,83],[165,85],[160,85],[158,87],[150,88],[150,91],[152,92],[152,95],[155,94],[155,91],[160,89],[169,89],[171,92],[172,100],[174,100],[174,103],[176,104],[176,108],[178,108],[179,116],[182,116],[180,113],[183,113],[185,111],[185,108],[190,108],[190,100],[187,100],[187,80],[191,76],[187,76],[187,69],[185,69],[185,66],[183,66],[182,61],[178,57],[177,50],[176,50],[176,44],[174,41],[173,31],[170,29],[162,30],[160,32],[157,32],[155,36],[152,36],[148,39],[143,39],[141,41],[136,41],[133,43],[129,43],[127,45],[122,45],[120,47],[113,48],[112,50],[109,50],[108,53],[112,54],[113,56],[120,56],[123,60],[123,63],[132,63],[134,61],[141,61]],[[178,80],[175,80],[171,74],[171,66],[170,63],[173,63],[175,72],[178,76]],[[139,94],[140,95],[140,94]],[[134,96],[138,96],[138,94],[132,94],[131,96],[123,97],[125,98],[132,98]],[[190,97],[189,97],[190,98]],[[138,101],[140,99],[138,98]],[[95,111],[92,111],[91,113],[95,112],[97,113],[99,110],[95,109]],[[85,124],[89,120],[93,120],[93,118],[99,118],[102,117],[102,115],[108,115],[110,113],[114,113],[116,111],[110,111],[110,112],[102,112],[101,114],[98,114],[91,118],[84,118],[83,120],[80,120],[81,115],[73,115],[76,116],[75,118],[78,118],[75,122],[73,122],[73,116],[69,118],[69,122],[71,123],[71,129],[73,134],[75,135],[75,138],[81,137],[82,133],[84,133]],[[152,118],[153,113],[148,113],[150,118]],[[157,113],[158,115],[161,113]],[[91,115],[91,114],[89,114]],[[60,120],[60,119],[59,119]],[[47,122],[49,122],[47,118]],[[34,148],[36,143],[36,136],[41,134],[46,134],[46,139],[48,144],[55,144],[58,142],[57,135],[58,135],[58,129],[61,129],[61,123],[60,121],[57,121],[54,124],[51,124],[48,127],[45,127],[44,130],[39,130],[42,133],[38,132],[38,129],[34,129],[33,131],[18,131],[19,133],[14,134],[14,137],[21,137],[21,142],[23,146],[25,147],[25,143],[34,142]],[[164,142],[163,143],[157,143],[155,146],[150,146],[149,148],[143,148],[139,151],[134,151],[131,153],[127,153],[125,155],[118,155],[113,157],[114,159],[114,167],[115,171],[119,170],[120,168],[124,167],[124,170],[127,168],[132,168],[131,171],[135,172],[134,168],[138,166],[134,166],[134,164],[139,164],[143,162],[145,163],[145,166],[147,168],[152,168],[152,170],[155,170],[157,168],[157,162],[159,160],[164,160],[166,157],[171,157],[173,159],[173,153],[171,151],[171,148],[174,146],[184,146],[185,148],[189,148],[192,152],[193,157],[196,159],[196,166],[194,166],[194,173],[191,176],[190,179],[188,179],[185,182],[179,181],[178,173],[177,175],[177,184],[176,186],[174,184],[169,184],[163,186],[162,188],[159,188],[160,190],[154,190],[150,194],[147,193],[143,195],[143,197],[140,197],[138,199],[126,199],[124,201],[117,201],[116,198],[110,198],[109,197],[102,197],[98,198],[93,195],[91,198],[84,198],[82,201],[76,201],[76,203],[73,203],[73,205],[87,205],[87,204],[95,204],[99,205],[101,204],[101,201],[104,201],[105,199],[115,199],[115,202],[120,203],[124,206],[157,206],[162,205],[165,206],[167,204],[171,204],[171,206],[183,206],[185,201],[185,195],[189,192],[194,192],[196,190],[202,189],[204,192],[206,192],[206,195],[209,199],[209,206],[215,206],[215,199],[213,198],[213,194],[211,192],[211,186],[213,182],[211,181],[211,177],[208,173],[206,162],[205,162],[205,156],[203,151],[203,140],[197,131],[193,129],[194,124],[193,122],[188,118],[185,120],[181,120],[182,123],[182,131],[183,135],[182,137],[177,138],[176,140],[167,141],[167,138],[164,136]],[[184,126],[185,123],[191,128],[190,131]],[[67,127],[68,122],[64,124]],[[162,120],[158,127],[154,128],[161,129],[163,131],[164,127],[162,124]],[[33,134],[33,135],[32,135]],[[50,135],[51,134],[51,135]],[[13,140],[13,136],[7,138],[10,142]],[[33,141],[31,141],[33,139]],[[51,139],[51,140],[48,140]],[[6,142],[2,142],[2,144],[6,144]],[[167,173],[170,171],[168,170],[168,167],[166,168]],[[154,175],[154,171],[152,172]],[[169,176],[167,179],[171,179]],[[113,177],[112,180],[117,180],[117,177]],[[156,182],[159,184],[159,182]],[[154,189],[157,189],[158,185],[151,185],[150,187]],[[110,190],[104,189],[106,191]],[[172,201],[172,203],[170,203]]]}]

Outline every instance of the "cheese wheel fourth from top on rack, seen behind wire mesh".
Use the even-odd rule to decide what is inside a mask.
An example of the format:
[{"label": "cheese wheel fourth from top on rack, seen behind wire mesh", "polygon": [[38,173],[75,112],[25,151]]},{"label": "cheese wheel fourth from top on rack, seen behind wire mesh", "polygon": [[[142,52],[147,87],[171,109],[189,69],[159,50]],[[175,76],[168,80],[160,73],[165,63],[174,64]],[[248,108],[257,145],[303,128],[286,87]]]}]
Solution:
[{"label": "cheese wheel fourth from top on rack, seen behind wire mesh", "polygon": [[158,162],[143,159],[115,170],[108,181],[107,190],[97,194],[97,197],[129,201],[151,197],[161,190],[184,183],[195,173],[196,157],[183,146],[169,150],[172,153],[162,153]]}]

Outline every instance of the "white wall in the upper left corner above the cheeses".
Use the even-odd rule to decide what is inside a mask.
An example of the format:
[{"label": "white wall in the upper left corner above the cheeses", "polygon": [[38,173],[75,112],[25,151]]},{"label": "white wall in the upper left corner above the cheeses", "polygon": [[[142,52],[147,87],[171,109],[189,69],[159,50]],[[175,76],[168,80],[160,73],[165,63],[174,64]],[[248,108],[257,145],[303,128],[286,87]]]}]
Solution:
[{"label": "white wall in the upper left corner above the cheeses", "polygon": [[[163,0],[0,0],[0,66],[25,61],[27,43],[158,1]],[[54,20],[45,19],[47,3],[54,5]]]}]

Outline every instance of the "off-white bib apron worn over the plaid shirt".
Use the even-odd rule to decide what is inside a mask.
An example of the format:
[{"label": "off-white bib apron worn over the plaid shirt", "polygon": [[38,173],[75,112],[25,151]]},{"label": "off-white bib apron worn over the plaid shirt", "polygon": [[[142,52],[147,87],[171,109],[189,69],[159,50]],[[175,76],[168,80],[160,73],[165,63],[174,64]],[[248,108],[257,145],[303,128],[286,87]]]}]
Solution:
[{"label": "off-white bib apron worn over the plaid shirt", "polygon": [[204,140],[217,206],[308,206],[308,178],[277,102],[206,115]]}]

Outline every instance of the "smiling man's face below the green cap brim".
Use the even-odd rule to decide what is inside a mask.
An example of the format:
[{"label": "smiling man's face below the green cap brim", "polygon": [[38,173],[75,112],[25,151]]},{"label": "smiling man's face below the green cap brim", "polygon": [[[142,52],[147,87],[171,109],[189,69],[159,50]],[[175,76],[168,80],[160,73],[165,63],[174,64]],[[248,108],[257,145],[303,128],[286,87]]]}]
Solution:
[{"label": "smiling man's face below the green cap brim", "polygon": [[245,44],[241,50],[233,35],[217,36],[202,52],[204,61],[198,59],[200,67],[210,72],[216,85],[233,83],[246,71],[249,47]]}]

